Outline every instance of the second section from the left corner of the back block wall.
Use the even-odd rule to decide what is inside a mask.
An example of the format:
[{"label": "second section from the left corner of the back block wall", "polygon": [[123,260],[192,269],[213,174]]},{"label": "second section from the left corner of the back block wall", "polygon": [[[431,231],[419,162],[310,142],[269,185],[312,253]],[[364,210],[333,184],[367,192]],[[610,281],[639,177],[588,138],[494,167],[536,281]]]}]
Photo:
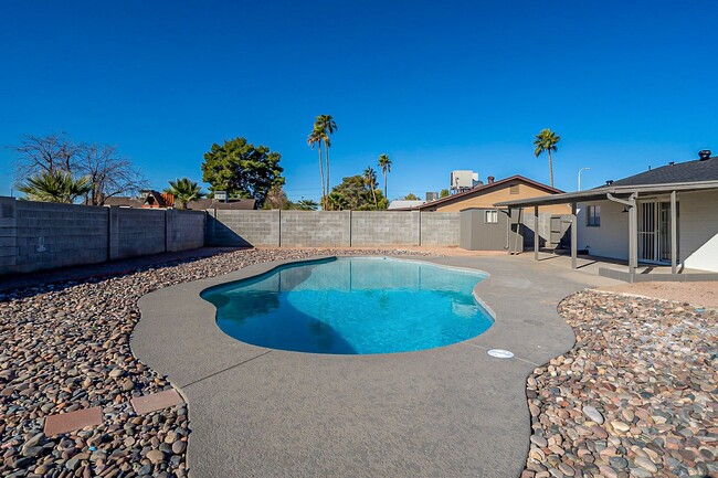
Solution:
[{"label": "second section from the left corner of the back block wall", "polygon": [[281,211],[282,245],[285,247],[349,247],[351,245],[351,211]]}]

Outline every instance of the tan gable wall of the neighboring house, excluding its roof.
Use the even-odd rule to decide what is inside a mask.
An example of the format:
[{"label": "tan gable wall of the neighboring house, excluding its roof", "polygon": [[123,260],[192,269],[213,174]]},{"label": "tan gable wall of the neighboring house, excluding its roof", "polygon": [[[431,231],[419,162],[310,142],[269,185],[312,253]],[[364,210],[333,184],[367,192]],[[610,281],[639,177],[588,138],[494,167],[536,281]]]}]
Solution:
[{"label": "tan gable wall of the neighboring house, excluding its roof", "polygon": [[[511,194],[511,185],[518,185],[517,194]],[[494,204],[501,201],[513,201],[543,195],[550,195],[550,193],[538,189],[532,184],[527,184],[520,180],[514,180],[507,182],[506,184],[501,184],[499,188],[492,191],[486,191],[484,193],[477,191],[476,195],[467,194],[463,198],[456,199],[456,201],[446,201],[445,203],[437,204],[435,208],[425,209],[423,211],[460,212],[471,208],[494,208]],[[548,212],[551,214],[570,214],[571,210],[568,205],[559,204],[539,208],[539,212]]]}]

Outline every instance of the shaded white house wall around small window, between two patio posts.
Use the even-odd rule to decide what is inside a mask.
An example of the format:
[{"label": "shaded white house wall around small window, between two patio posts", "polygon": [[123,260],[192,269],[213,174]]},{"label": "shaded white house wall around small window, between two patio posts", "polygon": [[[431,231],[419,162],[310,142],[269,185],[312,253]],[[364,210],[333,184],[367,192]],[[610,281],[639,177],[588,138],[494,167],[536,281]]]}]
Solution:
[{"label": "shaded white house wall around small window, between two patio posts", "polygon": [[[600,226],[585,224],[585,211],[589,205],[601,206]],[[579,203],[578,206],[577,246],[579,251],[588,247],[589,253],[594,256],[627,259],[629,214],[623,212],[623,204],[613,201],[598,201]]]}]

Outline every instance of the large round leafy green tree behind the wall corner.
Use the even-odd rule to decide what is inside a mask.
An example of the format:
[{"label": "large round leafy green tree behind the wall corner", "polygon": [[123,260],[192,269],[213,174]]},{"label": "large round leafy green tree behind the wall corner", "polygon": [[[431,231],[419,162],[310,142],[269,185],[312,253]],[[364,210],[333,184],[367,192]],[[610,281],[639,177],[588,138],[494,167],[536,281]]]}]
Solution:
[{"label": "large round leafy green tree behind the wall corner", "polygon": [[234,138],[222,146],[212,145],[204,153],[202,180],[210,183],[212,192],[253,198],[257,208],[263,208],[272,187],[284,184],[281,159],[278,152],[271,152],[266,146],[255,147],[244,138]]}]

